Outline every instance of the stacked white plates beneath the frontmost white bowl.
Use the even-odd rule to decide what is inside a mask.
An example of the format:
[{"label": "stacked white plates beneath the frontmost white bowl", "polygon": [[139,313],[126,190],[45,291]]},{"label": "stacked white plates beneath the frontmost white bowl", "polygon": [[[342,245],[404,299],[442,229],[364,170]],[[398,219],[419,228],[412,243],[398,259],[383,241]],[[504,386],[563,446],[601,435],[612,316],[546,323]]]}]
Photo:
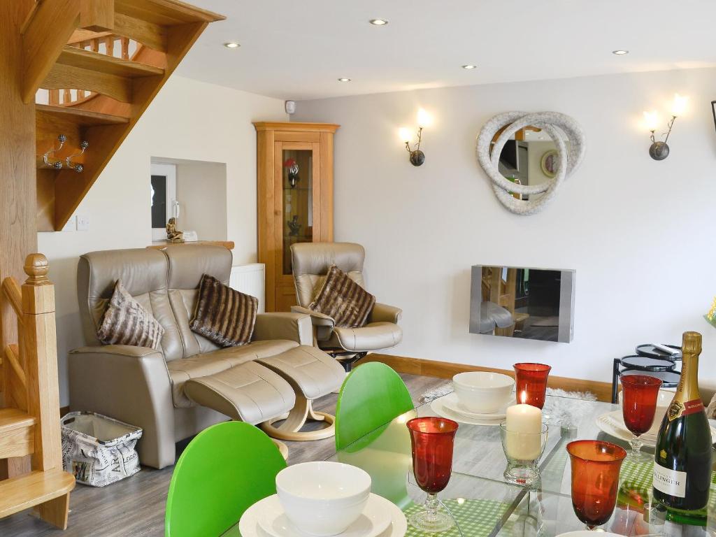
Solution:
[{"label": "stacked white plates beneath the frontmost white bowl", "polygon": [[[366,513],[366,511],[368,510],[371,510],[371,513],[377,513],[379,511],[381,513],[384,513],[384,515],[387,517],[387,520],[384,519],[383,529],[378,531],[377,533],[375,533],[374,531],[374,529],[377,528],[374,528],[372,526],[373,523],[370,521],[368,513]],[[279,503],[278,495],[274,494],[272,496],[269,496],[268,498],[263,498],[263,500],[259,500],[258,502],[251,505],[251,507],[243,513],[243,516],[241,516],[241,520],[238,522],[238,531],[241,532],[241,536],[304,537],[304,535],[306,535],[303,532],[299,533],[299,531],[295,529],[291,529],[291,533],[274,533],[274,531],[282,531],[280,527],[278,530],[276,530],[276,527],[274,526],[271,526],[271,533],[269,533],[269,531],[266,531],[262,528],[261,524],[261,516],[264,511],[269,511],[269,513],[273,513],[271,518],[274,519],[277,519],[279,518],[279,516],[284,515],[284,511],[281,508],[281,503]],[[390,502],[389,500],[386,500],[385,498],[382,498],[382,496],[379,496],[377,494],[371,494],[366,505],[366,511],[364,511],[364,515],[362,515],[361,518],[358,519],[359,521],[364,519],[369,525],[371,525],[369,528],[366,528],[366,531],[364,531],[364,533],[355,533],[353,531],[353,528],[356,523],[354,523],[346,531],[344,531],[343,533],[339,533],[335,537],[405,537],[405,533],[407,532],[407,520],[405,519],[405,515],[403,515],[402,511],[400,511],[400,508],[398,508],[397,505]],[[380,516],[378,517],[380,518]],[[264,524],[265,523],[266,522],[264,522]],[[289,531],[289,528],[286,528],[286,531]]]}]

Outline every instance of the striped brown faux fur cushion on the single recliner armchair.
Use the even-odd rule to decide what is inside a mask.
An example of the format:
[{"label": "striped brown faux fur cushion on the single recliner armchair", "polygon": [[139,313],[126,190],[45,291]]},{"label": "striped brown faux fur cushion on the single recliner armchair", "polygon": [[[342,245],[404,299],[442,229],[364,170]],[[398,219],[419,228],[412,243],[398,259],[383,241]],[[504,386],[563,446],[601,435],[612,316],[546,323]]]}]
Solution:
[{"label": "striped brown faux fur cushion on the single recliner armchair", "polygon": [[365,324],[374,304],[372,294],[333,265],[309,309],[333,317],[341,328],[357,328]]}]

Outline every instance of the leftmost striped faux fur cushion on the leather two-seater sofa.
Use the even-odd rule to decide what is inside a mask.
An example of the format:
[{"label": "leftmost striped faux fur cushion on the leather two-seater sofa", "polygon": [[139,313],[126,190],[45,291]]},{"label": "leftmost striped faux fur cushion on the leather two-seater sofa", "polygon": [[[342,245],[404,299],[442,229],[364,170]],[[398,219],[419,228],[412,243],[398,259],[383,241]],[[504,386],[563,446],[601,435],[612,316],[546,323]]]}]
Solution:
[{"label": "leftmost striped faux fur cushion on the leather two-seater sofa", "polygon": [[134,345],[158,349],[164,329],[122,282],[117,280],[112,299],[102,317],[97,339],[105,345]]}]

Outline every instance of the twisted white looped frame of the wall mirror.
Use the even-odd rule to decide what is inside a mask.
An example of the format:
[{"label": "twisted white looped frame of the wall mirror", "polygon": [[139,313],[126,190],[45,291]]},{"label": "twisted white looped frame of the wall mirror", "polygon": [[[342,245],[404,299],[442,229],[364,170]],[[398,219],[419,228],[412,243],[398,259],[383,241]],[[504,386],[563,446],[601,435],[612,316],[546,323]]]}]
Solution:
[{"label": "twisted white looped frame of the wall mirror", "polygon": [[[500,153],[518,130],[532,125],[546,130],[557,146],[557,173],[552,180],[539,185],[518,185],[507,180],[500,173],[498,163]],[[490,153],[490,144],[495,134],[507,126],[500,134]],[[569,145],[566,142],[569,141]],[[509,211],[521,215],[538,213],[554,197],[559,186],[568,175],[576,170],[584,158],[584,132],[579,123],[568,115],[559,112],[505,112],[493,117],[480,130],[477,143],[478,162],[493,182],[493,190],[500,203]],[[518,194],[542,194],[534,200],[518,200],[511,192]]]}]

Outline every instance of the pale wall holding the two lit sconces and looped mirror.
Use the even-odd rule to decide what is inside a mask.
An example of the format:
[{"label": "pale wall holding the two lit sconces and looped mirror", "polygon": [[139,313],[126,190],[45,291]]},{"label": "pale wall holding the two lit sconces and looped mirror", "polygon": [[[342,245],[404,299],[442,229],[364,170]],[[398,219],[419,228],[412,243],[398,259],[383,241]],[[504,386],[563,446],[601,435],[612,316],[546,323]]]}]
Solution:
[{"label": "pale wall holding the two lit sconces and looped mirror", "polygon": [[[672,153],[656,162],[639,122],[691,96]],[[705,336],[701,372],[716,377],[716,330],[702,315],[716,294],[716,70],[623,74],[342,97],[298,103],[292,120],[342,125],[335,146],[335,238],[367,251],[367,284],[404,310],[408,357],[609,381],[611,360],[646,342]],[[435,124],[414,168],[397,129],[419,106]],[[498,112],[556,110],[576,118],[586,158],[543,213],[516,216],[495,199],[475,137]],[[664,125],[666,123],[664,117]],[[470,266],[576,269],[574,342],[468,333]]]}]

